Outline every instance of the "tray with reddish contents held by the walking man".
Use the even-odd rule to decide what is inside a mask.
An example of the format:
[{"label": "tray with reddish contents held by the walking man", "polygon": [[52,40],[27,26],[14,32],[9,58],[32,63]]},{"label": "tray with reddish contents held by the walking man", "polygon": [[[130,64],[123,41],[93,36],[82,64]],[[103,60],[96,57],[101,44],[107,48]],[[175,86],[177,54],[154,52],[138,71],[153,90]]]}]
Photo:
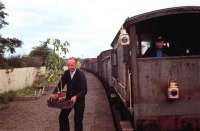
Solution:
[{"label": "tray with reddish contents held by the walking man", "polygon": [[55,97],[47,100],[48,107],[60,108],[60,109],[69,109],[73,107],[71,100],[66,99],[66,93],[60,92],[55,94]]}]

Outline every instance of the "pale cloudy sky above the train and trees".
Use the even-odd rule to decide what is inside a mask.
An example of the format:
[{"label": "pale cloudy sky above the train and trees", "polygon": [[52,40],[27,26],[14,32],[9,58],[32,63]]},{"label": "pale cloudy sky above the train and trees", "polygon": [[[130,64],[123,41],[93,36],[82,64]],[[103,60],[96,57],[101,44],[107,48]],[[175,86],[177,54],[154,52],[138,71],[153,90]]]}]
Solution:
[{"label": "pale cloudy sky above the train and trees", "polygon": [[28,55],[40,41],[70,43],[65,58],[97,57],[110,44],[127,17],[176,6],[200,6],[200,0],[1,0],[9,15],[3,37],[23,41],[15,55]]}]

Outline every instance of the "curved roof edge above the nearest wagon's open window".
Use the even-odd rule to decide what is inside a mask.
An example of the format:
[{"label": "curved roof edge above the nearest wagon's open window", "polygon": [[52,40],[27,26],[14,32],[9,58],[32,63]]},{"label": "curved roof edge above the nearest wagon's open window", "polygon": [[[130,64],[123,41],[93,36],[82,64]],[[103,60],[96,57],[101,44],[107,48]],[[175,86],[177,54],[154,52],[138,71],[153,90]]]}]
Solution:
[{"label": "curved roof edge above the nearest wagon's open window", "polygon": [[184,13],[200,13],[200,6],[180,6],[180,7],[159,9],[127,18],[126,21],[124,22],[124,25],[144,21],[159,16],[184,14]]}]

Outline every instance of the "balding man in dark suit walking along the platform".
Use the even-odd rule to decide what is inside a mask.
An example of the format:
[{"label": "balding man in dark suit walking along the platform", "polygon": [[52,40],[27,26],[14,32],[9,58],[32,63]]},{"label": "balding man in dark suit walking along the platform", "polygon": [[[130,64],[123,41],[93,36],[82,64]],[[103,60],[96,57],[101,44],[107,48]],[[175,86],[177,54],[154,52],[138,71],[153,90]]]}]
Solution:
[{"label": "balding man in dark suit walking along the platform", "polygon": [[[74,57],[68,59],[67,67],[68,70],[62,75],[58,87],[59,90],[61,90],[65,85],[67,85],[66,99],[71,100],[74,104],[74,129],[75,131],[83,131],[83,115],[85,108],[85,95],[87,93],[87,81],[84,73],[76,68],[77,60]],[[57,91],[58,88],[54,90],[54,93]],[[72,108],[61,110],[59,115],[60,131],[70,131],[68,116],[71,110]]]}]

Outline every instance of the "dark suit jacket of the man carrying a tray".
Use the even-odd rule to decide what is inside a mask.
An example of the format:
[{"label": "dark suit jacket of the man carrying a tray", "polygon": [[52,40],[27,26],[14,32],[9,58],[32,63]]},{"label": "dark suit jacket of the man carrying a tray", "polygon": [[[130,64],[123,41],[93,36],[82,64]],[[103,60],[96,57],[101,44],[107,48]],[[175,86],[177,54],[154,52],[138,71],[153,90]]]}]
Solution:
[{"label": "dark suit jacket of the man carrying a tray", "polygon": [[[61,84],[62,81],[62,84]],[[61,81],[58,84],[59,89],[63,89],[67,84],[67,99],[71,99],[72,96],[77,96],[78,100],[83,99],[87,93],[87,81],[83,72],[76,69],[76,72],[71,79],[69,70],[65,71],[61,77]],[[62,87],[61,87],[62,85]],[[56,93],[58,89],[54,90]]]}]

